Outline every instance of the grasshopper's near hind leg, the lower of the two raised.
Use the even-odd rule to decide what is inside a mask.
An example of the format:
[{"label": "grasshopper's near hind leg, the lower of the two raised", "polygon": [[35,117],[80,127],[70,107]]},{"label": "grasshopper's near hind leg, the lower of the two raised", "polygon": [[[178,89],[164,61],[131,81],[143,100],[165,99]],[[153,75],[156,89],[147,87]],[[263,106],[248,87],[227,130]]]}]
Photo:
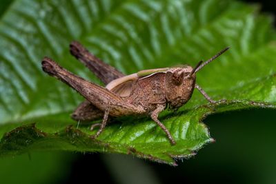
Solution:
[{"label": "grasshopper's near hind leg, the lower of the two raised", "polygon": [[101,110],[101,112],[104,112],[101,127],[95,134],[95,138],[103,131],[109,115],[124,116],[146,113],[146,110],[144,110],[143,107],[126,103],[121,99],[121,97],[117,96],[117,94],[68,72],[52,59],[46,57],[41,64],[44,72],[48,73],[50,76],[54,76],[63,83],[66,83],[85,97],[90,103],[92,103],[92,105],[95,105],[95,107]]}]

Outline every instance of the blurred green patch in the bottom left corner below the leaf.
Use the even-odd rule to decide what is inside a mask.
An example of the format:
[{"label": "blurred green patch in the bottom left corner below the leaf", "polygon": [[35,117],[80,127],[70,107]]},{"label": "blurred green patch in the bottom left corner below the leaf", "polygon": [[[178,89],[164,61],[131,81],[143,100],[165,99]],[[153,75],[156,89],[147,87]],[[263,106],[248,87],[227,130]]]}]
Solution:
[{"label": "blurred green patch in the bottom left corner below the leaf", "polygon": [[59,183],[70,172],[71,157],[68,153],[45,151],[2,157],[1,183]]}]

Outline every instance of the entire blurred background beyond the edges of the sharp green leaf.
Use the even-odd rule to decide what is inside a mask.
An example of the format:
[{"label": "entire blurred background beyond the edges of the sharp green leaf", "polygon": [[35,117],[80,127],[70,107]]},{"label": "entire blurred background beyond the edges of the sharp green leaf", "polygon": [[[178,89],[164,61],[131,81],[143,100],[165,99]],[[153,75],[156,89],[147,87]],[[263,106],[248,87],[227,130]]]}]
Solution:
[{"label": "entire blurred background beyond the edges of the sharp green leaf", "polygon": [[[275,14],[273,1],[262,12]],[[0,16],[12,1],[0,1]],[[117,154],[30,152],[0,158],[0,183],[276,183],[275,110],[241,110],[208,116],[216,143],[178,167]]]}]

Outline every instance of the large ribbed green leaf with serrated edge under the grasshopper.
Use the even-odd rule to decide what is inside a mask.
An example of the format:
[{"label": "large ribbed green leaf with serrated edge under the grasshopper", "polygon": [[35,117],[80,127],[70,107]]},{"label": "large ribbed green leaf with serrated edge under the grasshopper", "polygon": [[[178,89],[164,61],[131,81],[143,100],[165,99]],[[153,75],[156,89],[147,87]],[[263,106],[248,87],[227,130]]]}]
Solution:
[{"label": "large ribbed green leaf with serrated edge under the grasshopper", "polygon": [[[175,165],[212,142],[201,121],[244,108],[273,108],[276,101],[276,34],[258,6],[238,1],[23,1],[0,20],[0,155],[30,150],[134,154]],[[222,48],[230,50],[197,74],[195,90],[177,113],[160,120],[177,145],[147,118],[115,119],[97,141],[70,113],[83,98],[41,70],[43,56],[99,83],[68,52],[78,40],[126,74],[187,63],[196,65]],[[36,124],[30,124],[36,123]]]}]

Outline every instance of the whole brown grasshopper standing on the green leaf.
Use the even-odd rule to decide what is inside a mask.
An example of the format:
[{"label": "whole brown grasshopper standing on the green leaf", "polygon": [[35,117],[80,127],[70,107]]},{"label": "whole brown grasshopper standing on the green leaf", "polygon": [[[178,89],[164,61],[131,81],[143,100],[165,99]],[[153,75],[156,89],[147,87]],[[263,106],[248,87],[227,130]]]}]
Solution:
[{"label": "whole brown grasshopper standing on the green leaf", "polygon": [[[70,44],[71,54],[94,72],[106,84],[106,88],[68,72],[48,57],[45,57],[41,64],[44,72],[70,85],[86,98],[86,101],[81,103],[72,114],[72,119],[77,121],[103,119],[101,124],[95,124],[100,125],[100,128],[93,136],[94,138],[97,138],[103,131],[108,116],[148,114],[164,130],[170,143],[175,145],[175,140],[168,129],[158,120],[159,113],[166,107],[177,109],[187,103],[195,88],[210,103],[215,103],[195,83],[195,74],[226,50],[228,48],[221,50],[204,63],[200,61],[195,68],[181,65],[172,68],[141,70],[125,76],[90,54],[80,43],[72,42]],[[95,125],[91,126],[91,130]]]}]

